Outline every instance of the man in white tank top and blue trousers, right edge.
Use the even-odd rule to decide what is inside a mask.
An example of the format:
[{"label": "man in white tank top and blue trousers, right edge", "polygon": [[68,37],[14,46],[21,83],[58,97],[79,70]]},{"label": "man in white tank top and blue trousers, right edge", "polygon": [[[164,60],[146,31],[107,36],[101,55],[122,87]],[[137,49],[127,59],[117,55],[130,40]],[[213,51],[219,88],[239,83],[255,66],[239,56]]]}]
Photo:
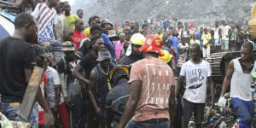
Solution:
[{"label": "man in white tank top and blue trousers, right edge", "polygon": [[254,112],[251,82],[253,81],[252,74],[256,70],[256,64],[253,61],[252,54],[253,44],[246,42],[241,47],[241,57],[230,61],[218,100],[218,104],[224,103],[224,93],[230,87],[233,108],[240,117],[239,127],[244,128],[252,127]]}]

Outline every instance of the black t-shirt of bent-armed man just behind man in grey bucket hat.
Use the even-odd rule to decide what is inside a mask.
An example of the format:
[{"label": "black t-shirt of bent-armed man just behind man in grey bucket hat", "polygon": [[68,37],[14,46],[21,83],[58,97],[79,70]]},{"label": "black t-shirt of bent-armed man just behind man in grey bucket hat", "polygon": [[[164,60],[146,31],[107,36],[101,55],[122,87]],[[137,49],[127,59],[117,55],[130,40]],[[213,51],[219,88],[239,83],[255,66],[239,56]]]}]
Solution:
[{"label": "black t-shirt of bent-armed man just behind man in grey bucket hat", "polygon": [[96,61],[96,56],[92,55],[91,53],[85,55],[82,60],[80,61],[79,65],[84,68],[85,72],[85,79],[90,78],[91,70],[96,67],[98,61]]}]

